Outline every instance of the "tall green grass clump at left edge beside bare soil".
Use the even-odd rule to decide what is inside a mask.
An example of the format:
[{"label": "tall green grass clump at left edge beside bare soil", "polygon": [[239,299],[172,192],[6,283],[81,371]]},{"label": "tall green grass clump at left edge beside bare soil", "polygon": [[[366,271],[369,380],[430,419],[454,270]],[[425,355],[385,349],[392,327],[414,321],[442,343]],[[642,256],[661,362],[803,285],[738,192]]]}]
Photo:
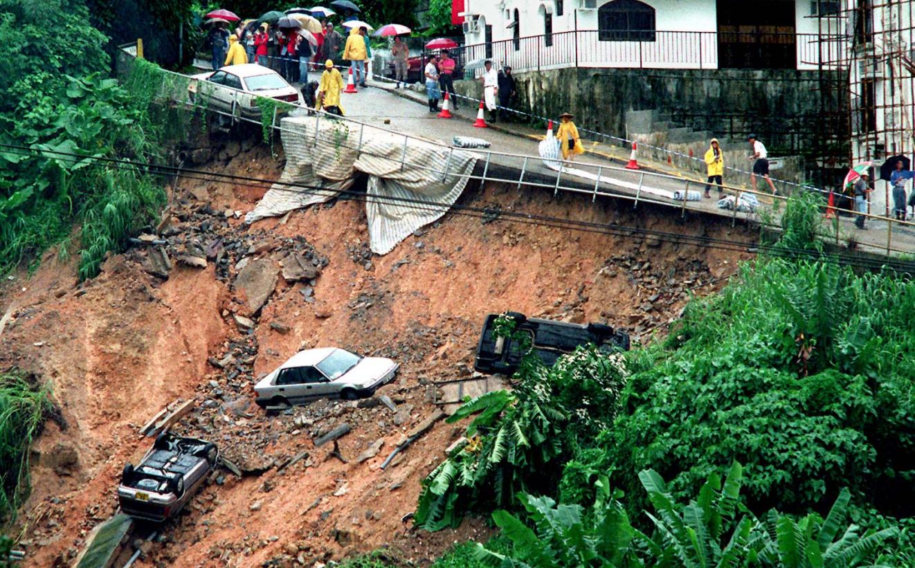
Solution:
[{"label": "tall green grass clump at left edge beside bare soil", "polygon": [[50,408],[47,386],[21,370],[0,373],[0,521],[15,520],[28,496],[29,448]]}]

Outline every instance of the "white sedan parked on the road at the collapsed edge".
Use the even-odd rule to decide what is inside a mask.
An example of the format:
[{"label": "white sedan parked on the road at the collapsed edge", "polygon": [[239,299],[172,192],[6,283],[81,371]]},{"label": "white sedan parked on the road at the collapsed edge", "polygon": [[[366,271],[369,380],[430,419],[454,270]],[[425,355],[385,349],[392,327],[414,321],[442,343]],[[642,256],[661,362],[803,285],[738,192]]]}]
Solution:
[{"label": "white sedan parked on the road at the collapsed edge", "polygon": [[239,113],[245,118],[260,119],[258,97],[305,104],[302,93],[286,82],[279,73],[263,65],[245,63],[227,65],[220,70],[191,76],[188,97],[215,111]]}]

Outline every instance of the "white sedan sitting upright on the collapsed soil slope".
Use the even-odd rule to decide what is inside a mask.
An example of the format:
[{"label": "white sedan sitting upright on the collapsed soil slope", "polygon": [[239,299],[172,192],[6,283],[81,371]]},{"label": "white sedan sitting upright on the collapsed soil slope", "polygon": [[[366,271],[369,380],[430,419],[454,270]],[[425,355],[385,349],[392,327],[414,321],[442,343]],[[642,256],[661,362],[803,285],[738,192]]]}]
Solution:
[{"label": "white sedan sitting upright on the collapsed soil slope", "polygon": [[383,357],[360,357],[346,349],[299,351],[254,385],[258,405],[289,406],[316,398],[355,400],[391,382],[400,367]]}]

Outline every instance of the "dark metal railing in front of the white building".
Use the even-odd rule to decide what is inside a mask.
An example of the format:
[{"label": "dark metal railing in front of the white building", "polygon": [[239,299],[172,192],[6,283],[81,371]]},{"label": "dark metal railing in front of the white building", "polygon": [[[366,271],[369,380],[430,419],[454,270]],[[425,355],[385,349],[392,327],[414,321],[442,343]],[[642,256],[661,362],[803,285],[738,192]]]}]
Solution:
[{"label": "dark metal railing in front of the white building", "polygon": [[[502,39],[449,49],[516,72],[564,67],[630,69],[838,69],[842,36],[771,32],[608,32],[596,29]],[[479,76],[479,68],[468,77]]]}]

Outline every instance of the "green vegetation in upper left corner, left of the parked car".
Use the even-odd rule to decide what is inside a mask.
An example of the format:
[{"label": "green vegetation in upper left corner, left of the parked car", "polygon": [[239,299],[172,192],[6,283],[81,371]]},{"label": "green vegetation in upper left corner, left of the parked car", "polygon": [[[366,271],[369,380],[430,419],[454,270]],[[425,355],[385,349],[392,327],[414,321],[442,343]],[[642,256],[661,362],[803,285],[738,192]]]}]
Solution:
[{"label": "green vegetation in upper left corner, left of the parked car", "polygon": [[[81,2],[4,0],[0,38],[0,273],[32,263],[82,221],[80,276],[98,273],[106,252],[155,219],[161,184],[137,168],[98,158],[156,158],[162,130],[148,101],[106,79],[106,38]],[[66,53],[48,49],[67,38]]]}]

